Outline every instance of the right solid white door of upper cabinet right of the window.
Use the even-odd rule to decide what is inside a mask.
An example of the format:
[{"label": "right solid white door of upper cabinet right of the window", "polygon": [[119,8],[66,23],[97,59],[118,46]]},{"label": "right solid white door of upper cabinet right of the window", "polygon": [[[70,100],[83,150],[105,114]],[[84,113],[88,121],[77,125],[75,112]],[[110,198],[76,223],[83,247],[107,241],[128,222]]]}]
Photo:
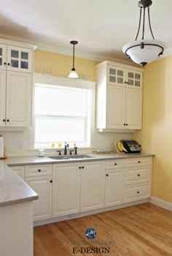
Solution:
[{"label": "right solid white door of upper cabinet right of the window", "polygon": [[141,129],[142,91],[126,88],[125,124],[127,129]]}]

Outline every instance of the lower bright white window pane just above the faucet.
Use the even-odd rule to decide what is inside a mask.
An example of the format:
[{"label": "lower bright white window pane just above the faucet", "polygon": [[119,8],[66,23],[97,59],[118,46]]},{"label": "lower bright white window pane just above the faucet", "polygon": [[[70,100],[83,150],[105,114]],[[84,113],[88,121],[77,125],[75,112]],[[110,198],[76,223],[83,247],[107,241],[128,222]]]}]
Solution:
[{"label": "lower bright white window pane just above the faucet", "polygon": [[36,117],[35,131],[35,144],[64,141],[83,144],[85,118]]}]

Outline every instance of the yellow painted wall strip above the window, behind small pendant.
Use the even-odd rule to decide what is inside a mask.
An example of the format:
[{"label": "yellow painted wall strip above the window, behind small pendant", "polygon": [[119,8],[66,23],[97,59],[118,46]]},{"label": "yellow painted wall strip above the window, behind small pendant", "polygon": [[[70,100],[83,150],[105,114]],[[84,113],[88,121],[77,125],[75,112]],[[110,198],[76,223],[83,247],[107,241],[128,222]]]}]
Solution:
[{"label": "yellow painted wall strip above the window, behind small pendant", "polygon": [[[91,81],[96,81],[95,65],[98,61],[91,61],[88,59],[81,59],[75,57],[75,69],[77,74],[90,76]],[[51,74],[67,78],[72,67],[72,56],[67,56],[59,53],[47,52],[45,50],[35,50],[34,52],[34,70],[35,72],[42,72],[46,68],[51,69]]]}]

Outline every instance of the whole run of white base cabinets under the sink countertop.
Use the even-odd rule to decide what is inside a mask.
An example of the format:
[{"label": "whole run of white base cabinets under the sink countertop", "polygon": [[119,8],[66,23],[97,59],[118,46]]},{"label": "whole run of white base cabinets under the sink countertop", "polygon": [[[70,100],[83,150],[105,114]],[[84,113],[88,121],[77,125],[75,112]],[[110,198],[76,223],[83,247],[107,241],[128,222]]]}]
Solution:
[{"label": "whole run of white base cabinets under the sink countertop", "polygon": [[35,221],[151,197],[152,157],[11,168],[39,195]]}]

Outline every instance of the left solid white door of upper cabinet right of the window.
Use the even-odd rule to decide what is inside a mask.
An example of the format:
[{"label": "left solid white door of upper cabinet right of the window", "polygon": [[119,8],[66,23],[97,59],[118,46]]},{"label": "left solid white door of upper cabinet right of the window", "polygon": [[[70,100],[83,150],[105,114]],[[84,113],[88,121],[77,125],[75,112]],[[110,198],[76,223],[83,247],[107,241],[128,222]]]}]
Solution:
[{"label": "left solid white door of upper cabinet right of the window", "polygon": [[125,123],[125,87],[107,86],[106,128],[122,129]]}]

